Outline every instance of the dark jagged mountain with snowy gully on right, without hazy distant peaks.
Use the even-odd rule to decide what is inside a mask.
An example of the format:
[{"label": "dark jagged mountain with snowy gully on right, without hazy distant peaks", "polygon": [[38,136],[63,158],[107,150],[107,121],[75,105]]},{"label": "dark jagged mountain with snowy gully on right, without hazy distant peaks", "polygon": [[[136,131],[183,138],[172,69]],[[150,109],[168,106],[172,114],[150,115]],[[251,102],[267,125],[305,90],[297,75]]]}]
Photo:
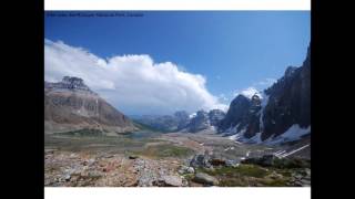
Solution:
[{"label": "dark jagged mountain with snowy gully on right, without hazy distant peaks", "polygon": [[262,96],[239,95],[219,132],[240,142],[280,144],[311,133],[311,51],[301,67],[290,66]]}]

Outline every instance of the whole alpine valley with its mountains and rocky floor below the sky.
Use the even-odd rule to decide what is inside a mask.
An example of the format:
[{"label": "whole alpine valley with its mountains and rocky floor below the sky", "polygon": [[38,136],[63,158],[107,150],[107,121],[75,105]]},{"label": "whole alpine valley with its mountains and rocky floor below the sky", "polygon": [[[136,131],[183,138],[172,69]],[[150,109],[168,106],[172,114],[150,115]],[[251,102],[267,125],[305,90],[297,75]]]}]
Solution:
[{"label": "whole alpine valley with its mountains and rocky floor below the sky", "polygon": [[80,76],[44,82],[48,187],[311,186],[311,51],[229,109],[125,115]]}]

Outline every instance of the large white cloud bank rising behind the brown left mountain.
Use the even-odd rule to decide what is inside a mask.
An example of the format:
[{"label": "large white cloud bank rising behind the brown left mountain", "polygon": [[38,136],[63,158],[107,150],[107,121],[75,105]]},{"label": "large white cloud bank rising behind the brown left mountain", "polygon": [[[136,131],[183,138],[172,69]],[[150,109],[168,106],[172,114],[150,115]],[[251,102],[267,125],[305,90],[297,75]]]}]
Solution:
[{"label": "large white cloud bank rising behind the brown left mountain", "polygon": [[154,63],[145,54],[101,59],[82,48],[44,41],[45,81],[57,82],[65,75],[81,77],[126,114],[226,109],[227,106],[206,90],[204,76],[180,69],[172,62]]}]

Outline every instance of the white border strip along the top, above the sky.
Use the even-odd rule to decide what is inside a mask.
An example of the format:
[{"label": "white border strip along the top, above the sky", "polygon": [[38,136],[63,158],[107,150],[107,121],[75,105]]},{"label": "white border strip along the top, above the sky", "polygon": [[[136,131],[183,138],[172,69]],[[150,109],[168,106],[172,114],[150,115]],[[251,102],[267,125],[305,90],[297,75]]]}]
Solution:
[{"label": "white border strip along the top, above the sky", "polygon": [[44,0],[44,10],[311,10],[311,0]]}]

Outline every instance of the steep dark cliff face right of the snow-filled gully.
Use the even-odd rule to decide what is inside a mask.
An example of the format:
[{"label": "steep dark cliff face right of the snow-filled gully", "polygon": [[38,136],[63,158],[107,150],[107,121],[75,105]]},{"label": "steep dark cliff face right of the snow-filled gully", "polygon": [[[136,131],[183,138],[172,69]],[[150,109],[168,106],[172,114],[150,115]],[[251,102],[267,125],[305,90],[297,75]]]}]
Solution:
[{"label": "steep dark cliff face right of the snow-filled gully", "polygon": [[292,125],[311,125],[311,52],[301,67],[287,67],[284,76],[265,91],[262,139],[278,136]]}]

